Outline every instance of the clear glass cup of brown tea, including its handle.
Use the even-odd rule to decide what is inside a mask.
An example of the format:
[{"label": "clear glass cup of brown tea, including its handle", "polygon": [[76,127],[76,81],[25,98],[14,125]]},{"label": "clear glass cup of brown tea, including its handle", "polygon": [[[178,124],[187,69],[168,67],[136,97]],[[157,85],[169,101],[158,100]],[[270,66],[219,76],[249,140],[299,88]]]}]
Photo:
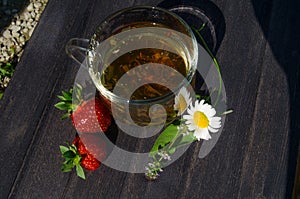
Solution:
[{"label": "clear glass cup of brown tea, including its handle", "polygon": [[150,6],[118,11],[91,39],[71,39],[67,54],[87,66],[118,126],[165,126],[177,117],[174,98],[193,80],[198,46],[176,14]]}]

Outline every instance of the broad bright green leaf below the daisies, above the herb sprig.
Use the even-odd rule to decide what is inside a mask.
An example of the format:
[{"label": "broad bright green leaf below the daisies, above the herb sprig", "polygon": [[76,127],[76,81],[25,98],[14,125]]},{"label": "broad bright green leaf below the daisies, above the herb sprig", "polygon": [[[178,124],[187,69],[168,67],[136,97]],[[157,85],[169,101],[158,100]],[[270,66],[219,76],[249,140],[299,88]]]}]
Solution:
[{"label": "broad bright green leaf below the daisies, above the herb sprig", "polygon": [[178,134],[177,126],[174,124],[169,125],[156,139],[150,155],[153,156],[162,147],[170,143]]}]

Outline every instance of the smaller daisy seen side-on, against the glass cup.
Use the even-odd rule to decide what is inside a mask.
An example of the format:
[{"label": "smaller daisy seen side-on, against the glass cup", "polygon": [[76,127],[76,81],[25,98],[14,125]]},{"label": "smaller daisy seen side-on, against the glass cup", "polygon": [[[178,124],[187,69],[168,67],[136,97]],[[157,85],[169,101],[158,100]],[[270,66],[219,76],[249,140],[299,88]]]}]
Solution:
[{"label": "smaller daisy seen side-on, against the glass cup", "polygon": [[177,115],[182,115],[191,102],[190,93],[185,87],[181,88],[175,97],[174,110],[178,111]]}]

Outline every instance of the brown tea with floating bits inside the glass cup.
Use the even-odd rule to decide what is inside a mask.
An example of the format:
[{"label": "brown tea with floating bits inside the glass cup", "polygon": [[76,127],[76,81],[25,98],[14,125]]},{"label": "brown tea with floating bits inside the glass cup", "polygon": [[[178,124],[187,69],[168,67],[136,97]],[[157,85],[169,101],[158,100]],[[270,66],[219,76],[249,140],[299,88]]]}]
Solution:
[{"label": "brown tea with floating bits inside the glass cup", "polygon": [[[134,67],[144,64],[147,64],[147,66],[143,70],[130,71]],[[164,71],[155,64],[171,67],[184,77],[186,76],[187,69],[181,56],[163,49],[145,48],[125,53],[112,62],[102,74],[102,84],[106,89],[113,92],[116,85],[121,87],[118,89],[126,90],[128,89],[128,84],[142,85],[143,82],[153,81],[154,83],[140,86],[134,91],[130,99],[147,100],[163,96],[171,92],[170,89],[164,85],[156,84],[155,81],[159,79],[160,82],[165,81],[166,85],[170,84],[170,81],[173,80],[172,77],[175,77],[177,72]],[[130,82],[121,85],[117,84],[125,73],[127,73]],[[130,92],[132,91],[128,90],[128,93]]]}]

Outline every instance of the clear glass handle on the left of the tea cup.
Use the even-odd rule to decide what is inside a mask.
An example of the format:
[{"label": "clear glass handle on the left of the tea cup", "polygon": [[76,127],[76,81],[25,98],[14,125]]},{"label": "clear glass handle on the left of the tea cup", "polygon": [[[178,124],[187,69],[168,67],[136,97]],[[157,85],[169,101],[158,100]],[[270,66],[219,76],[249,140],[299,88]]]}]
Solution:
[{"label": "clear glass handle on the left of the tea cup", "polygon": [[88,45],[88,39],[72,38],[66,45],[66,53],[69,57],[81,65],[85,60]]}]

